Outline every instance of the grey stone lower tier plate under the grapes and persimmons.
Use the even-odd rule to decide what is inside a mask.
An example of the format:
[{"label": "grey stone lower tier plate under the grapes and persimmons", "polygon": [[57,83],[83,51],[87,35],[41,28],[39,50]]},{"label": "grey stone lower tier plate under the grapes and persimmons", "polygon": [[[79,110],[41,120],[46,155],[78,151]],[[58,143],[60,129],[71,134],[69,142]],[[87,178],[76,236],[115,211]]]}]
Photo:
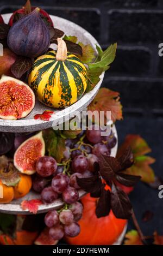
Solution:
[{"label": "grey stone lower tier plate under the grapes and persimmons", "polygon": [[[111,156],[115,157],[117,153],[117,147],[118,147],[118,137],[117,137],[117,131],[115,126],[112,127],[112,132],[114,132],[116,138],[117,138],[117,144],[115,145],[114,148],[111,149]],[[79,190],[79,196],[82,198],[85,195],[85,191],[82,189]],[[10,214],[30,214],[28,210],[22,210],[21,208],[21,202],[23,200],[32,200],[32,199],[40,199],[40,194],[30,191],[26,197],[13,200],[9,204],[0,204],[0,212],[4,213],[10,213]],[[48,212],[49,210],[54,210],[54,209],[60,209],[63,205],[63,201],[61,199],[57,199],[54,201],[52,204],[42,204],[39,206],[39,210],[37,213],[42,213],[42,212]]]}]

